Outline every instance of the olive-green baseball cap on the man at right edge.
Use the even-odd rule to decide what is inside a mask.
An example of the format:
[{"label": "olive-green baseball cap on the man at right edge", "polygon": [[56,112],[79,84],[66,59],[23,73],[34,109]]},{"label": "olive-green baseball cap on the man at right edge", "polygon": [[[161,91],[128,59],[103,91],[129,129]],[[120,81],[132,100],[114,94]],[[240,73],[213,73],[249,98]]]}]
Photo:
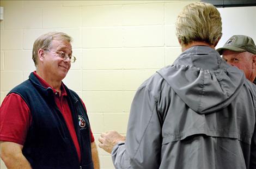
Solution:
[{"label": "olive-green baseball cap on the man at right edge", "polygon": [[245,35],[234,35],[225,42],[224,46],[218,48],[216,51],[222,55],[223,51],[228,49],[235,52],[250,52],[256,54],[256,46],[253,42],[252,37]]}]

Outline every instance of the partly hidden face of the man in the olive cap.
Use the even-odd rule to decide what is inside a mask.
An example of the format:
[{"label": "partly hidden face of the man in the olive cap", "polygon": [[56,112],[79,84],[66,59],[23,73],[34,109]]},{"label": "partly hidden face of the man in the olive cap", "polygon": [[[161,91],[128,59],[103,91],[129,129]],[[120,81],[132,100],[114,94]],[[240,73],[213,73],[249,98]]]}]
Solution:
[{"label": "partly hidden face of the man in the olive cap", "polygon": [[222,58],[231,66],[236,66],[245,73],[248,80],[253,82],[256,76],[256,55],[249,52],[234,52],[225,50]]}]

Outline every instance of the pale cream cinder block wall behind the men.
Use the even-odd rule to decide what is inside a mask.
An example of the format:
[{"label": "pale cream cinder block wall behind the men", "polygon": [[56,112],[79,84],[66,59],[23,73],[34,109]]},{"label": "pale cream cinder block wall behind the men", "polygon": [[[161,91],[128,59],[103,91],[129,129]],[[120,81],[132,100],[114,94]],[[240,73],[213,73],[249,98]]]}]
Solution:
[{"label": "pale cream cinder block wall behind the men", "polygon": [[[34,40],[65,32],[74,38],[77,61],[64,83],[86,103],[96,142],[106,130],[125,134],[137,87],[181,53],[174,24],[191,2],[1,1],[1,103],[35,70]],[[114,168],[98,150],[101,168]]]}]

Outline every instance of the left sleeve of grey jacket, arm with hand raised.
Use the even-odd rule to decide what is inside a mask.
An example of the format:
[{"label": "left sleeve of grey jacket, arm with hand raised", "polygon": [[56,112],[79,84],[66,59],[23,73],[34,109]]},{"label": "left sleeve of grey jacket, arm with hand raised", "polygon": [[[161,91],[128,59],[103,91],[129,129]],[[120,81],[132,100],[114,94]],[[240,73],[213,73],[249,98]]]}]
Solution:
[{"label": "left sleeve of grey jacket, arm with hand raised", "polygon": [[162,144],[159,117],[157,98],[141,86],[131,105],[126,141],[112,151],[115,168],[159,168]]}]

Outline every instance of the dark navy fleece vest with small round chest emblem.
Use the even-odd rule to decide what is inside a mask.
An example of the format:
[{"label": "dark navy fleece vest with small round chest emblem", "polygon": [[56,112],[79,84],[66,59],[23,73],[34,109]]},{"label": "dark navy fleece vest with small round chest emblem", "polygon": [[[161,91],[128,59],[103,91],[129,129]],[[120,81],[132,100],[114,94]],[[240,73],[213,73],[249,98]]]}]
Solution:
[{"label": "dark navy fleece vest with small round chest emblem", "polygon": [[[45,89],[38,78],[31,73],[28,80],[9,92],[19,94],[31,111],[32,124],[28,130],[22,153],[33,169],[94,168],[87,112],[80,97],[66,86],[65,90],[68,94],[68,104],[80,144],[81,162],[78,160],[76,148],[64,117],[54,102],[54,93],[50,87]],[[86,122],[85,127],[83,127],[84,124],[81,125],[78,118]]]}]

